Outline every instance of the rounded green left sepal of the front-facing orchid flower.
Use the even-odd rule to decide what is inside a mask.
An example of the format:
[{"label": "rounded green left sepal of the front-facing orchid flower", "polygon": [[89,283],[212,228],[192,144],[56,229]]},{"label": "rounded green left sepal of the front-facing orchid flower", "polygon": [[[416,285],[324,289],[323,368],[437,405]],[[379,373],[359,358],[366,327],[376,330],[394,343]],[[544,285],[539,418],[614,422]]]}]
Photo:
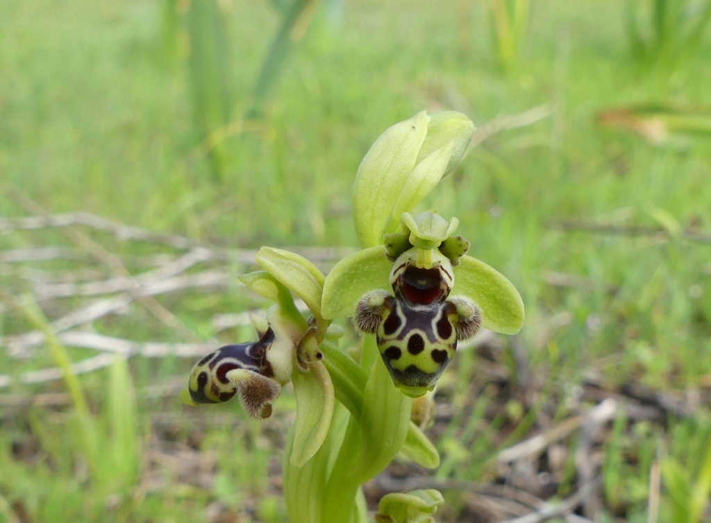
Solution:
[{"label": "rounded green left sepal of the front-facing orchid flower", "polygon": [[326,277],[321,314],[328,320],[353,316],[355,303],[366,292],[375,289],[391,292],[390,269],[392,262],[382,245],[341,259]]}]

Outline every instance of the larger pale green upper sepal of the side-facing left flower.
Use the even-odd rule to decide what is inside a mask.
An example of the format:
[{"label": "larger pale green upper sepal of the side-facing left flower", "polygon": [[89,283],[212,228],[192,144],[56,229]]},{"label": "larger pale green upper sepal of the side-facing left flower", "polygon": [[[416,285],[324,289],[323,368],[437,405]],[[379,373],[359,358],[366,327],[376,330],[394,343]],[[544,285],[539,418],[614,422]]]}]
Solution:
[{"label": "larger pale green upper sepal of the side-facing left flower", "polygon": [[299,296],[316,316],[321,315],[321,292],[326,276],[308,259],[294,252],[262,247],[255,257],[263,269]]}]

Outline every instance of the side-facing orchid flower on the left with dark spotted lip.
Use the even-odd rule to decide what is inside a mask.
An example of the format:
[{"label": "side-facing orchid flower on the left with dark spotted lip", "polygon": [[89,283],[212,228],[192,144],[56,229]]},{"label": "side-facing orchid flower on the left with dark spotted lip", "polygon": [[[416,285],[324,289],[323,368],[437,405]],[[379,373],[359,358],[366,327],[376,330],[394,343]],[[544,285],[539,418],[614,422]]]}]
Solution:
[{"label": "side-facing orchid flower on the left with dark spotted lip", "polygon": [[[320,314],[325,276],[304,257],[264,247],[257,262],[267,269],[240,276],[243,284],[276,303],[266,318],[252,318],[259,340],[225,345],[191,370],[181,395],[187,404],[223,403],[235,397],[255,418],[272,415],[272,402],[292,382],[296,397],[291,463],[301,466],[319,450],[331,425],[335,391],[324,367],[319,340],[328,336]],[[292,292],[314,312],[304,319]]]}]

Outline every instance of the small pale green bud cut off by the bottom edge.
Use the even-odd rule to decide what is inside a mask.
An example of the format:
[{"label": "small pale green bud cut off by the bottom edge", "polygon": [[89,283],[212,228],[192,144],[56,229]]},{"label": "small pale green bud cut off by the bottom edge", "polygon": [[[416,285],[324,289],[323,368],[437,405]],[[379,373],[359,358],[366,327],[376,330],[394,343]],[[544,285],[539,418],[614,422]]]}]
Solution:
[{"label": "small pale green bud cut off by the bottom edge", "polygon": [[377,523],[434,523],[432,514],[444,503],[439,490],[412,490],[407,493],[391,492],[378,504]]}]

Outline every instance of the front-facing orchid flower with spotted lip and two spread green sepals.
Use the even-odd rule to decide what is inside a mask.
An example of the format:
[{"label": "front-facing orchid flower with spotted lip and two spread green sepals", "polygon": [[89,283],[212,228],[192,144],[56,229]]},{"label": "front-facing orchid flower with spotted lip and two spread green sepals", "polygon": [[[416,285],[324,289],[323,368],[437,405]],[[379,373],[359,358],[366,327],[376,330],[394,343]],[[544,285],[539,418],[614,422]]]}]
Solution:
[{"label": "front-facing orchid flower with spotted lip and two spread green sepals", "polygon": [[458,224],[405,212],[400,232],[342,259],[324,283],[324,318],[353,316],[361,333],[375,334],[393,382],[410,397],[434,389],[457,343],[479,328],[513,334],[523,325],[518,291],[466,256],[469,242],[452,237]]}]

